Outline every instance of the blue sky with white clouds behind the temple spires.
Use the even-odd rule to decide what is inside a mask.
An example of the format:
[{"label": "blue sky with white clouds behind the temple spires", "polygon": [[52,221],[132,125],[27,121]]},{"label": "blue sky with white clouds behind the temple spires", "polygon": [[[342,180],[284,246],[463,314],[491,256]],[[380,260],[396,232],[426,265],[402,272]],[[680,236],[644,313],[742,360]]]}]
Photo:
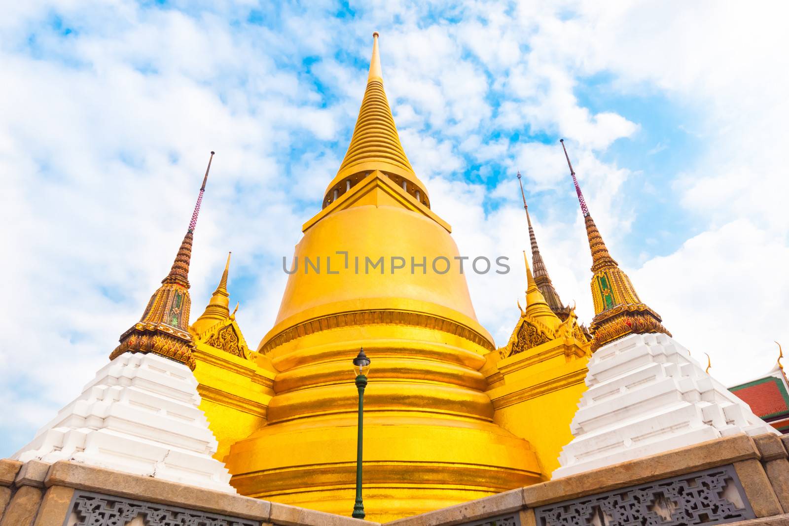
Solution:
[{"label": "blue sky with white clouds behind the temple spires", "polygon": [[[211,150],[193,319],[232,250],[231,300],[260,341],[282,256],[350,141],[376,30],[402,144],[463,254],[518,261],[522,170],[548,270],[589,321],[564,137],[611,252],[719,379],[767,371],[789,341],[780,2],[771,17],[718,2],[17,3],[0,21],[3,455],[139,318]],[[524,288],[513,269],[469,275],[499,345]]]}]

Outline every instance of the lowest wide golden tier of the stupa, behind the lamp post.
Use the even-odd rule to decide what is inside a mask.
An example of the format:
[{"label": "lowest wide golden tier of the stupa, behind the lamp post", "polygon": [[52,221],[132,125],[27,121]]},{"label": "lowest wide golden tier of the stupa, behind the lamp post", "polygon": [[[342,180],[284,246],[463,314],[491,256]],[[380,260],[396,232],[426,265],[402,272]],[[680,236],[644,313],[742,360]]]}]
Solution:
[{"label": "lowest wide golden tier of the stupa, behind the lamp post", "polygon": [[[356,442],[353,414],[276,423],[237,442],[227,468],[240,494],[350,515]],[[365,413],[364,459],[365,509],[376,521],[542,481],[528,442],[457,416]]]}]

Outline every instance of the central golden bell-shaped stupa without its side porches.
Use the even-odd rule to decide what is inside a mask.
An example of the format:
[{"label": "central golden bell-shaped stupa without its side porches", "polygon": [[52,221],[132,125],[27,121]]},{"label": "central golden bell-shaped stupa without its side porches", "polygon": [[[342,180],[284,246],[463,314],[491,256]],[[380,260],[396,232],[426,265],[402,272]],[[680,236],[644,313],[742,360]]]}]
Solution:
[{"label": "central golden bell-shaped stupa without its side porches", "polygon": [[[385,522],[544,477],[529,442],[493,420],[481,369],[495,344],[473,309],[469,263],[465,273],[456,264],[451,227],[425,205],[424,186],[402,153],[374,38],[331,202],[305,222],[290,271],[283,269],[289,275],[275,324],[254,356],[278,371],[266,424],[235,442],[225,461],[241,494],[349,513],[356,456],[348,445],[358,419],[350,364],[364,347],[372,360],[366,518]],[[364,179],[350,180],[356,175]],[[342,192],[337,199],[334,189]],[[320,271],[308,266],[318,259]]]}]

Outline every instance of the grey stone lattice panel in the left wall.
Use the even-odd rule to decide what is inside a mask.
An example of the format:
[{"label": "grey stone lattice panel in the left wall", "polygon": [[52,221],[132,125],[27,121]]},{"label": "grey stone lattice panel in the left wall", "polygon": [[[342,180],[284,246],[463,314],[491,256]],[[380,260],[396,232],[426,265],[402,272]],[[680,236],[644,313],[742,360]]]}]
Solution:
[{"label": "grey stone lattice panel in the left wall", "polygon": [[260,520],[227,517],[178,506],[76,491],[63,526],[125,526],[137,517],[145,526],[260,526]]}]

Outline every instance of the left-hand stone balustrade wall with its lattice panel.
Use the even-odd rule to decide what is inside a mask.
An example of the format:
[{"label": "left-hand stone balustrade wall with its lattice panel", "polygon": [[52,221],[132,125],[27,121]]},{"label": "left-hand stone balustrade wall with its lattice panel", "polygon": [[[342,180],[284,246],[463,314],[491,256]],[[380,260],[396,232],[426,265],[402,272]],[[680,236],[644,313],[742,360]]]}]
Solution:
[{"label": "left-hand stone balustrade wall with its lattice panel", "polygon": [[0,526],[376,526],[69,461],[0,461],[0,517]]}]

